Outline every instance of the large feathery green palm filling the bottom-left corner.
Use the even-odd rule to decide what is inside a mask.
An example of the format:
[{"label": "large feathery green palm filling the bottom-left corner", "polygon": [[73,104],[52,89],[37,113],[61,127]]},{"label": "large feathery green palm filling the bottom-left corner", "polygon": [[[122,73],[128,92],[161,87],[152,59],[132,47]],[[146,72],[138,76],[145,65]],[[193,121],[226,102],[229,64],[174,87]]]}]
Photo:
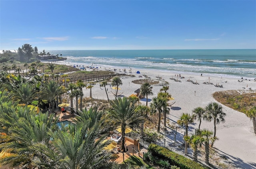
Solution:
[{"label": "large feathery green palm filling the bottom-left corner", "polygon": [[[0,121],[8,128],[8,137],[4,138],[0,149],[10,153],[0,159],[1,164],[20,165],[23,168],[36,168],[33,161],[38,157],[36,144],[47,144],[50,141],[48,132],[54,132],[58,118],[54,114],[30,112],[29,107],[10,105],[11,111],[1,114]],[[3,123],[2,123],[3,124]]]}]

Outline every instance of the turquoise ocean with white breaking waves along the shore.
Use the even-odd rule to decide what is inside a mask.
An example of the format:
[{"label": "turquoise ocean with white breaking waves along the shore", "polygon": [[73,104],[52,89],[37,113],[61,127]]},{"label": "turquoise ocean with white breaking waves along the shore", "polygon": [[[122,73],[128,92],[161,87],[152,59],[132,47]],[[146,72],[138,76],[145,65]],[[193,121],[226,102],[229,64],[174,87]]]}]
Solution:
[{"label": "turquoise ocean with white breaking waves along the shore", "polygon": [[256,78],[256,49],[204,50],[59,50],[66,63],[84,66],[149,69],[236,78]]}]

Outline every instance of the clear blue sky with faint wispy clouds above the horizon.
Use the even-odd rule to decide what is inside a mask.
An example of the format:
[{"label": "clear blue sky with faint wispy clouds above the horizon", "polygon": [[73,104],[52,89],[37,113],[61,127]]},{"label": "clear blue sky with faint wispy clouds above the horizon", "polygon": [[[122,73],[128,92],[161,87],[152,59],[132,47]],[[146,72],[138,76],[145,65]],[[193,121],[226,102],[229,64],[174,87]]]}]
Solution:
[{"label": "clear blue sky with faint wispy clouds above the horizon", "polygon": [[256,49],[255,0],[0,0],[0,50]]}]

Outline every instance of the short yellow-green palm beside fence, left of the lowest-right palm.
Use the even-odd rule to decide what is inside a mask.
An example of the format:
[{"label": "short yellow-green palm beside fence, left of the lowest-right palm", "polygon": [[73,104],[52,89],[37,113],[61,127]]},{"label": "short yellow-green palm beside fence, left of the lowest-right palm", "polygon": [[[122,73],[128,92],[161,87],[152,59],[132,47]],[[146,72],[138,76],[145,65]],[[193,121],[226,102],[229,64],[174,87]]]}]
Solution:
[{"label": "short yellow-green palm beside fence, left of the lowest-right palm", "polygon": [[197,158],[197,151],[198,151],[198,146],[202,142],[202,138],[199,135],[192,135],[190,136],[185,136],[184,140],[190,145],[190,147],[193,149],[193,157],[194,160]]}]

